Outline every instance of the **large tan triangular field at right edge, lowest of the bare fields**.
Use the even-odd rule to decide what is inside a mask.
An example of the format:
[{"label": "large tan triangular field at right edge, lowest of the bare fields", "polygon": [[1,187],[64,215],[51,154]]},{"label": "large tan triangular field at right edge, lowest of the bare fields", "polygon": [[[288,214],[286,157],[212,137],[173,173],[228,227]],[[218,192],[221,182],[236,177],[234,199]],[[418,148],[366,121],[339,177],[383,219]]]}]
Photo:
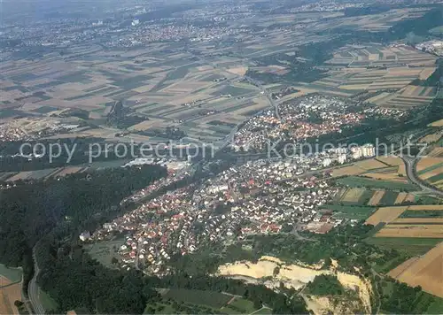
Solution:
[{"label": "large tan triangular field at right edge, lowest of the bare fields", "polygon": [[[407,283],[411,287],[420,286],[431,295],[443,297],[442,262],[443,242],[440,242],[438,246],[428,251],[423,257],[413,261],[394,278],[400,282]],[[395,269],[390,273],[394,272]]]}]

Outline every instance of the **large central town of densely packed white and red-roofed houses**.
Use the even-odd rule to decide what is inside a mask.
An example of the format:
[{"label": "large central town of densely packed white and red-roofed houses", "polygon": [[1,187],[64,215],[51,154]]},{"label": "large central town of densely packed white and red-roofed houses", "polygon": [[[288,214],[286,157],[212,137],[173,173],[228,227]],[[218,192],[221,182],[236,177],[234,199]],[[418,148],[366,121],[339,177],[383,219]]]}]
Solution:
[{"label": "large central town of densely packed white and red-roofed houses", "polygon": [[[147,274],[164,275],[170,270],[170,257],[189,254],[207,242],[301,230],[327,233],[344,223],[320,209],[338,193],[338,187],[327,181],[328,167],[374,155],[374,146],[368,144],[310,156],[260,159],[232,166],[201,184],[150,198],[159,188],[190,175],[171,173],[122,201],[139,202],[134,211],[92,234],[85,232],[81,240],[121,237],[118,253],[122,268],[135,266]],[[319,170],[322,173],[318,174]]]}]

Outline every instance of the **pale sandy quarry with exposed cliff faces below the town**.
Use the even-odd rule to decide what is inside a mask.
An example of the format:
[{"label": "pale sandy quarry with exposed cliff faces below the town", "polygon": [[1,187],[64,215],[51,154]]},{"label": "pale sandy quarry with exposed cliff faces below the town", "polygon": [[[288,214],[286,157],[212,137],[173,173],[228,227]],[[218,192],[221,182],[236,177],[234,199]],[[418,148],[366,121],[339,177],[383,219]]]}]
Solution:
[{"label": "pale sandy quarry with exposed cliff faces below the town", "polygon": [[[319,264],[312,266],[287,265],[276,257],[262,256],[257,263],[237,261],[234,264],[221,265],[218,269],[218,274],[250,280],[254,283],[257,283],[257,280],[261,278],[272,278],[264,282],[264,285],[268,288],[275,288],[276,283],[283,282],[285,287],[296,289],[303,288],[307,282],[314,280],[317,275],[336,274],[338,281],[343,287],[356,290],[365,310],[368,313],[371,311],[370,296],[372,294],[372,286],[369,280],[361,279],[354,274],[337,272],[338,264],[335,260],[332,261],[331,270],[320,270],[318,269],[319,266]],[[278,273],[276,273],[276,267],[279,267]],[[315,314],[323,314],[325,310],[331,310],[328,298],[309,296],[309,299],[312,300],[312,311]]]}]

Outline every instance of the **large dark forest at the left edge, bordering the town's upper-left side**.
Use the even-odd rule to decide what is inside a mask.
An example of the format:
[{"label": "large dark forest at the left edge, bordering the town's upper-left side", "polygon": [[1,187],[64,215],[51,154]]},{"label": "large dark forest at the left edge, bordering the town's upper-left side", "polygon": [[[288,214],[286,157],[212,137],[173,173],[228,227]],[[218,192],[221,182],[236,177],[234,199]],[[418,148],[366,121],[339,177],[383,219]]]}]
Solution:
[{"label": "large dark forest at the left edge, bordering the town's upper-left side", "polygon": [[158,165],[76,173],[66,178],[0,190],[0,263],[22,265],[30,249],[58,224],[73,229],[92,229],[124,211],[118,204],[136,189],[166,176]]}]

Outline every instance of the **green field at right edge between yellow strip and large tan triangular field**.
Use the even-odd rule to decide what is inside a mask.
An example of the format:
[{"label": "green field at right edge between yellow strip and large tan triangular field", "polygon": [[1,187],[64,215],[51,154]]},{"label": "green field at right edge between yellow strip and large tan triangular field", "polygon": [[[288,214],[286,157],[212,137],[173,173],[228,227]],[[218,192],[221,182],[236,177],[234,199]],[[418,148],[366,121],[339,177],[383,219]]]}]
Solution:
[{"label": "green field at right edge between yellow strip and large tan triangular field", "polygon": [[421,237],[370,237],[365,242],[385,250],[399,250],[412,257],[423,255],[443,239]]}]

